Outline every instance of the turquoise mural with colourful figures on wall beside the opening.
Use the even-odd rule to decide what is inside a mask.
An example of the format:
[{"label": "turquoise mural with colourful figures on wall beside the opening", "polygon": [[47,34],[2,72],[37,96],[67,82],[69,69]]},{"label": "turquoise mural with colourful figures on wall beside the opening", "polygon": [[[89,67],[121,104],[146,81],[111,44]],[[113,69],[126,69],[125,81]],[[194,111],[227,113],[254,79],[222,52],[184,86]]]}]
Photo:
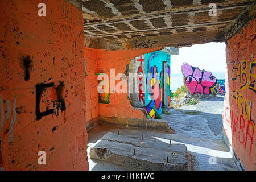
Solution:
[{"label": "turquoise mural with colourful figures on wall beside the opening", "polygon": [[[163,107],[163,61],[168,64],[167,71],[167,94],[168,94],[168,106],[171,101],[170,90],[170,55],[166,53],[156,51],[145,55],[145,68],[146,73],[146,94],[145,94],[145,106],[148,118],[155,118],[156,115],[162,113]],[[151,74],[151,75],[148,75]],[[167,106],[167,107],[168,107]]]}]

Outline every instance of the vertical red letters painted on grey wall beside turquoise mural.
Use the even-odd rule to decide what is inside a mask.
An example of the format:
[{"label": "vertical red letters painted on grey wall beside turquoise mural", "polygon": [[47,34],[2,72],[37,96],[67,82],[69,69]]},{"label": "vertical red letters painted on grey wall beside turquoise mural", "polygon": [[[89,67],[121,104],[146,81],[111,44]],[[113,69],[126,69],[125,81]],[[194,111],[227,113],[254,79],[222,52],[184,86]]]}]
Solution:
[{"label": "vertical red letters painted on grey wall beside turquoise mural", "polygon": [[144,72],[142,69],[142,61],[145,61],[145,59],[142,59],[142,56],[139,57],[140,59],[137,59],[136,61],[140,62],[139,68],[138,68],[138,77],[137,77],[137,82],[139,83],[138,85],[138,90],[139,90],[139,101],[142,101],[145,104],[145,85],[144,85]]}]

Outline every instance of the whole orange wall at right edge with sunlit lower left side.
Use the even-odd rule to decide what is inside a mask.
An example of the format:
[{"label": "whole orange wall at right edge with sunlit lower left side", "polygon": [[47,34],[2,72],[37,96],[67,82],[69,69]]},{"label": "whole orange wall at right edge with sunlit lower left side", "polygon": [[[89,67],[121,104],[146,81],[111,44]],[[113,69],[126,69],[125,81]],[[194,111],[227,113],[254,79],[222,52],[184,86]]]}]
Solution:
[{"label": "whole orange wall at right edge with sunlit lower left side", "polygon": [[[256,19],[226,45],[224,133],[246,170],[256,170]],[[251,105],[251,106],[250,106]]]}]

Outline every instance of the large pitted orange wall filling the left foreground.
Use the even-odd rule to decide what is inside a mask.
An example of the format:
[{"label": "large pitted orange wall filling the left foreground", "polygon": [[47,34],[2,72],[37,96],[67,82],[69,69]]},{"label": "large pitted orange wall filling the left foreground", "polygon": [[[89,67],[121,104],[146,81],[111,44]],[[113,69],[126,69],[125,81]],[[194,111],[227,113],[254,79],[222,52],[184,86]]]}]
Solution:
[{"label": "large pitted orange wall filling the left foreground", "polygon": [[[0,1],[0,117],[5,170],[88,169],[82,11],[64,0]],[[22,57],[30,57],[25,80]],[[28,77],[27,77],[28,78]],[[63,81],[65,111],[36,119],[36,84]],[[42,93],[40,111],[53,108],[55,89]],[[10,106],[10,107],[9,107]],[[46,165],[37,153],[46,152]]]}]

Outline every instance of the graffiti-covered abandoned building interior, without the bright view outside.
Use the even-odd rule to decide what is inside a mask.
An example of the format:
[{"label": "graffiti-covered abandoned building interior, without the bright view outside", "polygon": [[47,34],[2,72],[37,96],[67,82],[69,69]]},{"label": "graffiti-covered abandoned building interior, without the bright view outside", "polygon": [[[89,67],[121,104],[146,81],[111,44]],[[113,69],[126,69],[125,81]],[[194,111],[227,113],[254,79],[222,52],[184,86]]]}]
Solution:
[{"label": "graffiti-covered abandoned building interior, without the bright view outside", "polygon": [[[255,9],[254,0],[1,0],[1,171],[255,171]],[[171,105],[172,56],[210,42],[226,44],[224,104],[199,115],[218,118],[218,135],[205,129],[210,119]],[[188,86],[188,69],[184,85],[203,93]],[[205,94],[220,92],[214,82]]]}]

